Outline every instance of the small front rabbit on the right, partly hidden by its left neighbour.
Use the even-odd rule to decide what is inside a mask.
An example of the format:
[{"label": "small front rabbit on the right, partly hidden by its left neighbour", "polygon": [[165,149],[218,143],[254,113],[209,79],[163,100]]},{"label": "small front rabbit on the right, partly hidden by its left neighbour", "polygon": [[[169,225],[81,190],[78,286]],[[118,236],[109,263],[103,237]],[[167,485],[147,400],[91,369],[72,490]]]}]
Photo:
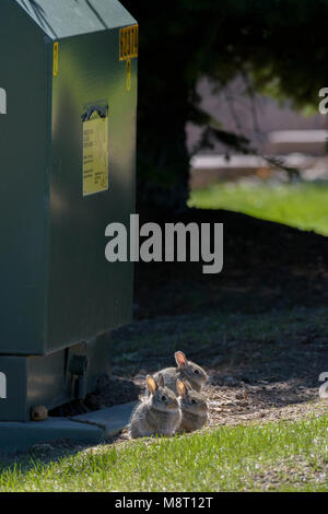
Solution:
[{"label": "small front rabbit on the right, partly hidden by its left neighbour", "polygon": [[178,432],[199,430],[208,421],[208,404],[201,393],[194,390],[188,382],[177,381],[177,392],[180,396],[183,413]]}]

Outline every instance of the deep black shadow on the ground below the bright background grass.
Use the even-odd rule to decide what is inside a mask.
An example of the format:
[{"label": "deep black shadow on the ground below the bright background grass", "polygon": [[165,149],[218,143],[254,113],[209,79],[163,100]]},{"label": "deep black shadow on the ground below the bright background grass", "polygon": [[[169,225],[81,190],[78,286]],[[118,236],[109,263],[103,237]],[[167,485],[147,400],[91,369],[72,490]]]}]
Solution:
[{"label": "deep black shadow on the ground below the bright background grass", "polygon": [[327,305],[327,237],[220,210],[188,209],[159,223],[177,221],[223,223],[223,271],[203,274],[201,262],[137,264],[136,319]]}]

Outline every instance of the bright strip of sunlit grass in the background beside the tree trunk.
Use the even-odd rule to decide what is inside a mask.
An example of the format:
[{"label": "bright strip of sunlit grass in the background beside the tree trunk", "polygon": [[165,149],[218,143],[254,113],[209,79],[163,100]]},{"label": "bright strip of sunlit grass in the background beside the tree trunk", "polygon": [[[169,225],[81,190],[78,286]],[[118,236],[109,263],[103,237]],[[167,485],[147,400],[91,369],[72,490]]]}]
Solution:
[{"label": "bright strip of sunlit grass in the background beside the tree trunk", "polygon": [[328,235],[328,184],[222,183],[192,190],[189,207],[226,209]]}]

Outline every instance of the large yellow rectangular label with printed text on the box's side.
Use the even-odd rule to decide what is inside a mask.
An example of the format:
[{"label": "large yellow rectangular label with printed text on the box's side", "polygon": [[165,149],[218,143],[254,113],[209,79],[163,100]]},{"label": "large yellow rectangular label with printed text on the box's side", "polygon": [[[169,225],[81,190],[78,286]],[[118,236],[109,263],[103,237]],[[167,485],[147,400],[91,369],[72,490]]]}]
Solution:
[{"label": "large yellow rectangular label with printed text on the box's side", "polygon": [[83,196],[108,189],[108,117],[83,124]]}]

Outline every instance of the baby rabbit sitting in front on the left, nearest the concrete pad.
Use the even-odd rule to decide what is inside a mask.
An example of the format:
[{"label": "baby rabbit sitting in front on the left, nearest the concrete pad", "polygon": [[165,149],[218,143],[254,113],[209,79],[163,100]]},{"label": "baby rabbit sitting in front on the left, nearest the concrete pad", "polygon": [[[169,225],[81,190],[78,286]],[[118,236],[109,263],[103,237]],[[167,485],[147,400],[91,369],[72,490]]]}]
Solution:
[{"label": "baby rabbit sitting in front on the left, nearest the concrete pad", "polygon": [[157,379],[147,376],[149,398],[138,405],[130,421],[132,439],[150,435],[173,435],[181,421],[181,411],[175,394],[165,387],[160,373]]}]

